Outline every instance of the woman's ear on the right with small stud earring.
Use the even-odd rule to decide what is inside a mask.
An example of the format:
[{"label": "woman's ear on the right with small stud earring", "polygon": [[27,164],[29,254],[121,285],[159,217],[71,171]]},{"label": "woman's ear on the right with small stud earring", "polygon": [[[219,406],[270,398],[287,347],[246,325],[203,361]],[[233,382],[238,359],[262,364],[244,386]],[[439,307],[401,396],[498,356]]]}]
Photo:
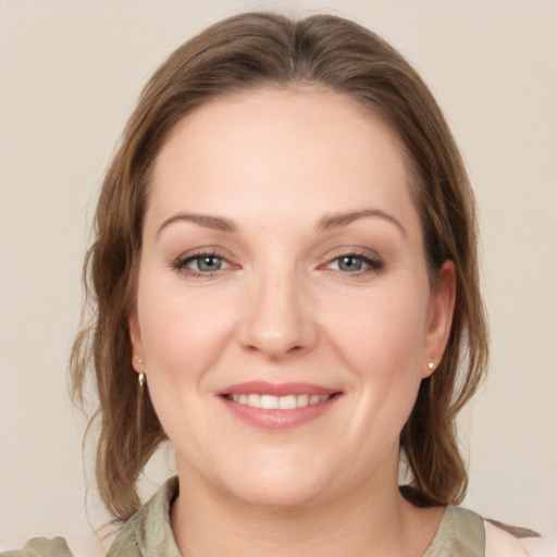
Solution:
[{"label": "woman's ear on the right with small stud earring", "polygon": [[[437,280],[430,297],[422,377],[430,376],[443,358],[453,324],[456,289],[455,263],[453,261],[445,261],[437,274]],[[431,366],[431,362],[433,362],[433,366]]]}]

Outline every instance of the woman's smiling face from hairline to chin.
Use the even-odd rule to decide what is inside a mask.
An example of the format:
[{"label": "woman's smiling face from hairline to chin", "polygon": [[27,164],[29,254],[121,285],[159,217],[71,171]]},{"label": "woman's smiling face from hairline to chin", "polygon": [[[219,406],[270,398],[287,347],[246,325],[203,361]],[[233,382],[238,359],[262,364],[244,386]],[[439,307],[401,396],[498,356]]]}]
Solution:
[{"label": "woman's smiling face from hairline to chin", "polygon": [[161,150],[131,334],[181,481],[255,505],[396,486],[453,311],[397,137],[311,89],[222,98]]}]

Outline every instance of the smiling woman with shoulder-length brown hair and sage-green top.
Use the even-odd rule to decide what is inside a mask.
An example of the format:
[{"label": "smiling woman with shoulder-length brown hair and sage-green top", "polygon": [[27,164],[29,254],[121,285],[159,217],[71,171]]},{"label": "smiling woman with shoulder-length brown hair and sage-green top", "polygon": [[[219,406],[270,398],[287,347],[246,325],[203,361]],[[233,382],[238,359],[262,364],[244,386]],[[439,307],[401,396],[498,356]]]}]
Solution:
[{"label": "smiling woman with shoulder-length brown hair and sage-green top", "polygon": [[[379,37],[245,14],[188,41],[144,90],[96,233],[72,367],[77,399],[89,371],[99,394],[109,555],[525,555],[454,506],[454,420],[487,358],[474,203]],[[177,478],[139,509],[166,437]]]}]

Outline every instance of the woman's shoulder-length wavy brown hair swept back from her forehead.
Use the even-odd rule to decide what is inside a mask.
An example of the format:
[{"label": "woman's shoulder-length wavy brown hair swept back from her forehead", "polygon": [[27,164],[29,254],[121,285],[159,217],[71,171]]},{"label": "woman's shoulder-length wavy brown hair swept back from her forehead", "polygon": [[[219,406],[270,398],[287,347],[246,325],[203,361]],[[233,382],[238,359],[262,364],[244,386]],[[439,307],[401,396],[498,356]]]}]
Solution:
[{"label": "woman's shoulder-length wavy brown hair swept back from her forehead", "polygon": [[84,268],[95,311],[75,341],[71,370],[78,401],[89,373],[95,380],[97,480],[116,522],[139,507],[138,476],[165,438],[149,397],[141,396],[127,325],[153,161],[176,123],[209,99],[299,84],[342,92],[396,131],[410,161],[430,276],[446,260],[455,263],[457,299],[448,345],[436,372],[421,383],[400,448],[424,504],[459,503],[466,493],[455,417],[482,377],[487,339],[474,200],[453,136],[416,71],[370,30],[332,15],[292,21],[247,13],[209,27],[159,67],[125,127],[100,193],[96,240]]}]

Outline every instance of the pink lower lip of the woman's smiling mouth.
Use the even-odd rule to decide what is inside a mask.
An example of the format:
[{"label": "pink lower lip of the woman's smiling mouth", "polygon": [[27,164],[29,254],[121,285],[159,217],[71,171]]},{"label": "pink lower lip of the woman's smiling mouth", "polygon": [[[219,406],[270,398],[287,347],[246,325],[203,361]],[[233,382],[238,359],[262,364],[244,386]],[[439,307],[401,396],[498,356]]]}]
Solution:
[{"label": "pink lower lip of the woman's smiling mouth", "polygon": [[292,410],[265,410],[248,405],[239,405],[223,396],[219,398],[231,412],[250,425],[264,430],[289,430],[317,420],[326,413],[339,398],[339,395],[334,395],[324,403],[302,406]]}]

